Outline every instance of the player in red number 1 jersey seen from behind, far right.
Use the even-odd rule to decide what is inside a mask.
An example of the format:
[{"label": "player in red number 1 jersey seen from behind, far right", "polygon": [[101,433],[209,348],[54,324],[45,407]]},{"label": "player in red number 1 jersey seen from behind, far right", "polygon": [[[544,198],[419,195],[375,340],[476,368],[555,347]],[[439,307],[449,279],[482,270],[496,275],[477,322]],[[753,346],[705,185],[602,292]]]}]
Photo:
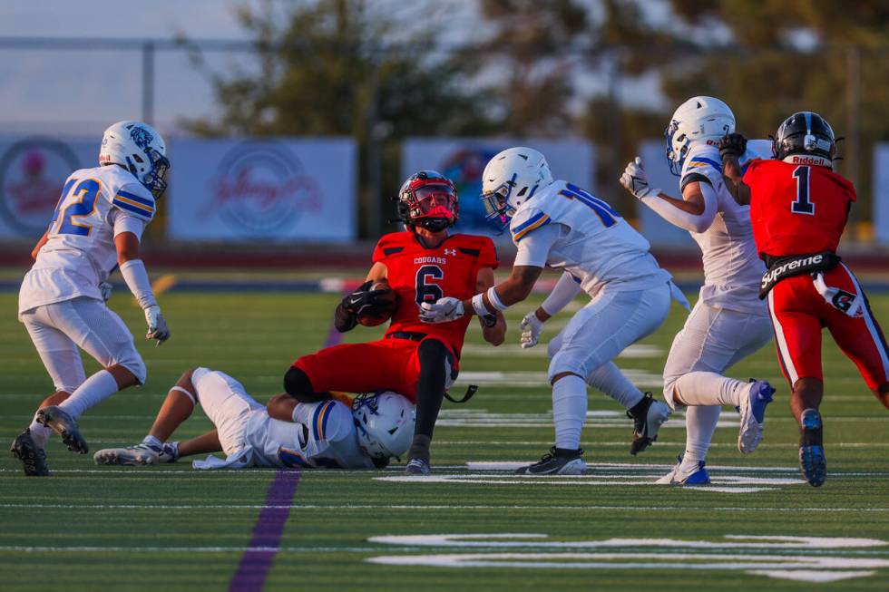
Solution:
[{"label": "player in red number 1 jersey seen from behind, far right", "polygon": [[737,156],[744,142],[732,134],[719,148],[738,202],[750,204],[757,251],[768,268],[759,296],[767,298],[778,362],[793,389],[790,408],[800,423],[799,464],[818,487],[827,474],[818,412],[822,327],[889,408],[889,348],[865,292],[836,256],[855,187],[833,172],[834,131],[817,113],[787,118],[776,133],[774,160],[751,163],[741,178]]}]

